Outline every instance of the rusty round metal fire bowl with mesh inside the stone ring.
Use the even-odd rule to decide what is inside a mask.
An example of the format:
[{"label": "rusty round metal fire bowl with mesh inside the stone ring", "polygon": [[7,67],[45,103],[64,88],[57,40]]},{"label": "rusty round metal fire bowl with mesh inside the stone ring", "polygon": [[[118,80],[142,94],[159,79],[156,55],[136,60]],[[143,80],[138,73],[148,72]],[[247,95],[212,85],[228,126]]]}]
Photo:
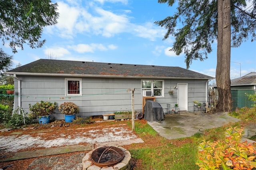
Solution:
[{"label": "rusty round metal fire bowl with mesh inside the stone ring", "polygon": [[113,166],[124,158],[124,152],[117,147],[100,147],[91,154],[94,165],[99,167]]}]

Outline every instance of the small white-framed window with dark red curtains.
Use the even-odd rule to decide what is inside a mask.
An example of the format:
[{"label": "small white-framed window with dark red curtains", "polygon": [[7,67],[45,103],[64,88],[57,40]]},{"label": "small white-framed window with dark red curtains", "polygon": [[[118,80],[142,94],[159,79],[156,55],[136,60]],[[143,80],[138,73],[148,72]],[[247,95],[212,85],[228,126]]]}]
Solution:
[{"label": "small white-framed window with dark red curtains", "polygon": [[65,78],[66,82],[66,96],[80,96],[82,95],[82,81],[81,79]]}]

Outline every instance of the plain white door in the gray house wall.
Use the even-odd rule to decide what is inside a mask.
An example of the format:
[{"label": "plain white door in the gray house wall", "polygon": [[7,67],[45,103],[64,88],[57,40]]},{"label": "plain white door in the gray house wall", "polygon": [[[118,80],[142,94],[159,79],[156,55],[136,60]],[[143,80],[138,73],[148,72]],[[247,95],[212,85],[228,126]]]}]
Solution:
[{"label": "plain white door in the gray house wall", "polygon": [[178,105],[180,111],[188,110],[188,84],[178,83]]}]

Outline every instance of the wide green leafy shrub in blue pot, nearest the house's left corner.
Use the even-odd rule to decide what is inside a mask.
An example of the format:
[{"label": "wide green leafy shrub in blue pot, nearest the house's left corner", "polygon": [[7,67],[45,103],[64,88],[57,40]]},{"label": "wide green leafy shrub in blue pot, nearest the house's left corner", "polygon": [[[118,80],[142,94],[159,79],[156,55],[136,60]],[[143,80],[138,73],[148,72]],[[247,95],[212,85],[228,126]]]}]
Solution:
[{"label": "wide green leafy shrub in blue pot, nearest the house's left corner", "polygon": [[28,117],[34,118],[38,117],[40,124],[50,123],[50,114],[54,113],[54,110],[57,108],[57,103],[54,102],[36,102],[36,104],[29,104],[29,110],[32,111],[29,113]]}]

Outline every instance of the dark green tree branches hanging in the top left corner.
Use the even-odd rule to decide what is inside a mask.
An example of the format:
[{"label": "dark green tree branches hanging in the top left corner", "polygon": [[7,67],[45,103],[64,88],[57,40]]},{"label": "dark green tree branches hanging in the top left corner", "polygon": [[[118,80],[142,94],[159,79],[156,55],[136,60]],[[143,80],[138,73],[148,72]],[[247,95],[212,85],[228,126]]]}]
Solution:
[{"label": "dark green tree branches hanging in the top left corner", "polygon": [[23,50],[23,44],[40,48],[43,28],[57,23],[57,4],[50,0],[0,0],[0,38],[8,41],[12,52]]}]

